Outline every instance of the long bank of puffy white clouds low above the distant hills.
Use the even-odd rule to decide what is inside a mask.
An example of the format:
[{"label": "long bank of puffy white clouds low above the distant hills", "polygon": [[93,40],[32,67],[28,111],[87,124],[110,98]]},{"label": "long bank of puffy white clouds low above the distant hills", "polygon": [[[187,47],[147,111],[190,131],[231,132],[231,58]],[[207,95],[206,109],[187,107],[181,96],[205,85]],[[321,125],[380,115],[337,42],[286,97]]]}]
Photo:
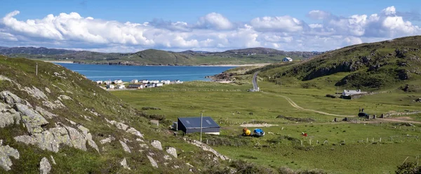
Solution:
[{"label": "long bank of puffy white clouds low above the distant hills", "polygon": [[[421,34],[408,13],[394,6],[378,13],[349,17],[309,11],[307,24],[289,15],[263,16],[232,22],[220,13],[208,13],[196,22],[117,22],[83,17],[79,13],[46,15],[18,20],[20,11],[0,19],[0,46],[46,46],[101,52],[135,52],[147,48],[224,51],[264,46],[285,51],[327,51],[352,44]],[[22,12],[24,13],[24,12]],[[415,18],[416,13],[411,13]],[[415,15],[414,15],[415,14]]]}]

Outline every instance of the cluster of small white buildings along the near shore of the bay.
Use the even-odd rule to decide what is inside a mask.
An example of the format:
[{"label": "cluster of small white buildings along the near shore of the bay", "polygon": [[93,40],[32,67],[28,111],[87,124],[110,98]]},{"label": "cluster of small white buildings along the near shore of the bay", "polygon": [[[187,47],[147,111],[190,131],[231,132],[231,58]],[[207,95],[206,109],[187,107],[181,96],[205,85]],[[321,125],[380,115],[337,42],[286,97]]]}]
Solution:
[{"label": "cluster of small white buildings along the near shore of the bay", "polygon": [[124,83],[121,79],[116,79],[114,81],[108,80],[108,81],[95,81],[97,84],[102,85],[105,84],[105,88],[107,89],[124,89],[124,88],[155,88],[159,86],[163,86],[164,84],[171,84],[171,83],[183,83],[183,81],[175,80],[175,81],[169,81],[169,80],[138,80],[133,79],[130,81],[130,83],[127,84]]}]

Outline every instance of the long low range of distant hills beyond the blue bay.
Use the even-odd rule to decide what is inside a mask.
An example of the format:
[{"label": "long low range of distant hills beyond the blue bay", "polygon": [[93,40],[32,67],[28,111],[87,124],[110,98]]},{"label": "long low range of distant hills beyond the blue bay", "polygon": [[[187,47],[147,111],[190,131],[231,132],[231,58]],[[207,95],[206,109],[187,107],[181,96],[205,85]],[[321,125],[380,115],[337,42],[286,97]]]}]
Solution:
[{"label": "long low range of distant hills beyond the blue bay", "polygon": [[76,63],[109,65],[227,65],[250,63],[274,63],[290,57],[305,60],[319,52],[278,51],[272,48],[245,48],[224,52],[161,51],[148,49],[136,53],[98,53],[70,51],[54,48],[1,47],[0,54],[12,58],[41,60],[67,60]]}]

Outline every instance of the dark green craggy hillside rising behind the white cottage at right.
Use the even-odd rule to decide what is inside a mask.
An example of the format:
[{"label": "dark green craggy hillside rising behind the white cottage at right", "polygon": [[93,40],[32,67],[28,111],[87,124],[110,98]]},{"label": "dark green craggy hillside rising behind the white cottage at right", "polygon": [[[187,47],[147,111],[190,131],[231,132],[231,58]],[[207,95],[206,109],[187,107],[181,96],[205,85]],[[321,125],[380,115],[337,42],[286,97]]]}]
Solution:
[{"label": "dark green craggy hillside rising behind the white cottage at right", "polygon": [[[340,48],[294,64],[262,67],[261,76],[277,83],[340,86],[370,91],[420,84],[421,36]],[[251,72],[250,72],[251,73]],[[296,81],[298,80],[298,81]],[[316,84],[323,80],[323,84]],[[413,88],[420,88],[413,86]],[[416,89],[417,90],[417,89]]]}]

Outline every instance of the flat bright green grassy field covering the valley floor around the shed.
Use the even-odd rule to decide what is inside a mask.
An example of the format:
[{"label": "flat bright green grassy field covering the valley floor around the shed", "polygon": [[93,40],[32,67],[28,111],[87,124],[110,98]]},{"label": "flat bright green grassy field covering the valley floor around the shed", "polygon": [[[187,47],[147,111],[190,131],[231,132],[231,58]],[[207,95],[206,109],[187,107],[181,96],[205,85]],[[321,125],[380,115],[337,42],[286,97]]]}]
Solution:
[{"label": "flat bright green grassy field covering the valley floor around the shed", "polygon": [[[212,116],[222,127],[221,135],[204,135],[203,141],[207,140],[218,152],[232,159],[273,168],[319,168],[328,173],[394,173],[396,166],[407,157],[408,161],[415,161],[421,155],[420,126],[402,126],[401,123],[380,119],[334,123],[335,116],[297,109],[279,97],[286,96],[305,109],[352,116],[361,107],[370,114],[421,108],[420,103],[410,102],[410,98],[400,91],[342,100],[325,97],[327,93],[336,92],[333,87],[300,88],[301,82],[283,86],[259,81],[260,89],[267,93],[250,93],[246,92],[251,87],[247,83],[249,79],[249,76],[244,76],[243,85],[194,81],[150,90],[112,93],[138,109],[159,107],[158,110],[145,112],[165,115],[171,121],[183,116],[199,116],[201,112]],[[279,115],[312,121],[276,119]],[[408,116],[413,121],[421,120],[420,115]],[[276,126],[263,128],[267,133],[265,137],[250,138],[241,136],[242,123],[271,123]],[[308,136],[302,137],[302,132],[308,133]],[[187,136],[199,139],[197,134]]]}]

